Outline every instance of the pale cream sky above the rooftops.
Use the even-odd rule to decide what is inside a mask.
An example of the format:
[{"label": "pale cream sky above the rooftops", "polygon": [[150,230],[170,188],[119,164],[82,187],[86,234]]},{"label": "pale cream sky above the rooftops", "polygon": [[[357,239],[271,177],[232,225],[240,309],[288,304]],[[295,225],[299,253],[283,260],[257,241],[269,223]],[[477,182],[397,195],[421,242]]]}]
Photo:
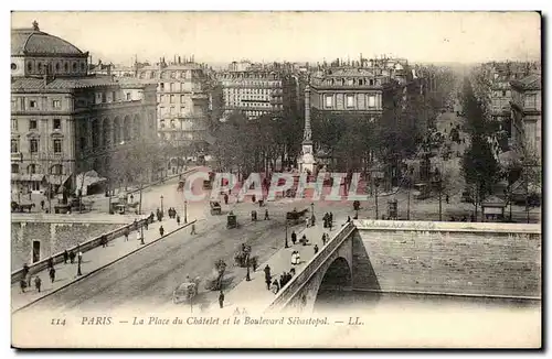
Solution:
[{"label": "pale cream sky above the rooftops", "polygon": [[410,62],[539,59],[537,12],[12,12],[93,61],[157,62],[194,54],[227,63],[322,62],[383,54]]}]

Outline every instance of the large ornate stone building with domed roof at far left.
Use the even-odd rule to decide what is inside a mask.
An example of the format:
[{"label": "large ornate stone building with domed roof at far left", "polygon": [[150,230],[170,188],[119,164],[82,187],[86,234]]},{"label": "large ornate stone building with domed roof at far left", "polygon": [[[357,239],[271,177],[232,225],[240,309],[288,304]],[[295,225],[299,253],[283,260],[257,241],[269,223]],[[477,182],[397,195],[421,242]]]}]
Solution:
[{"label": "large ornate stone building with domed roof at far left", "polygon": [[11,178],[21,192],[75,191],[109,177],[114,152],[156,140],[156,87],[87,74],[88,53],[30,29],[11,32]]}]

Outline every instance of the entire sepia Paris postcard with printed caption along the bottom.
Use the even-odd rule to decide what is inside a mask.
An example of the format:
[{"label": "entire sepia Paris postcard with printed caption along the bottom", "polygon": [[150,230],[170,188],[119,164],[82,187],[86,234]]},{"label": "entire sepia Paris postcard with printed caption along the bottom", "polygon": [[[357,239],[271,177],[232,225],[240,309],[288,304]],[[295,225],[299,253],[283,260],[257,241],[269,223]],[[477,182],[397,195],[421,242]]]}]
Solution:
[{"label": "entire sepia Paris postcard with printed caption along the bottom", "polygon": [[13,12],[15,348],[540,348],[538,12]]}]

